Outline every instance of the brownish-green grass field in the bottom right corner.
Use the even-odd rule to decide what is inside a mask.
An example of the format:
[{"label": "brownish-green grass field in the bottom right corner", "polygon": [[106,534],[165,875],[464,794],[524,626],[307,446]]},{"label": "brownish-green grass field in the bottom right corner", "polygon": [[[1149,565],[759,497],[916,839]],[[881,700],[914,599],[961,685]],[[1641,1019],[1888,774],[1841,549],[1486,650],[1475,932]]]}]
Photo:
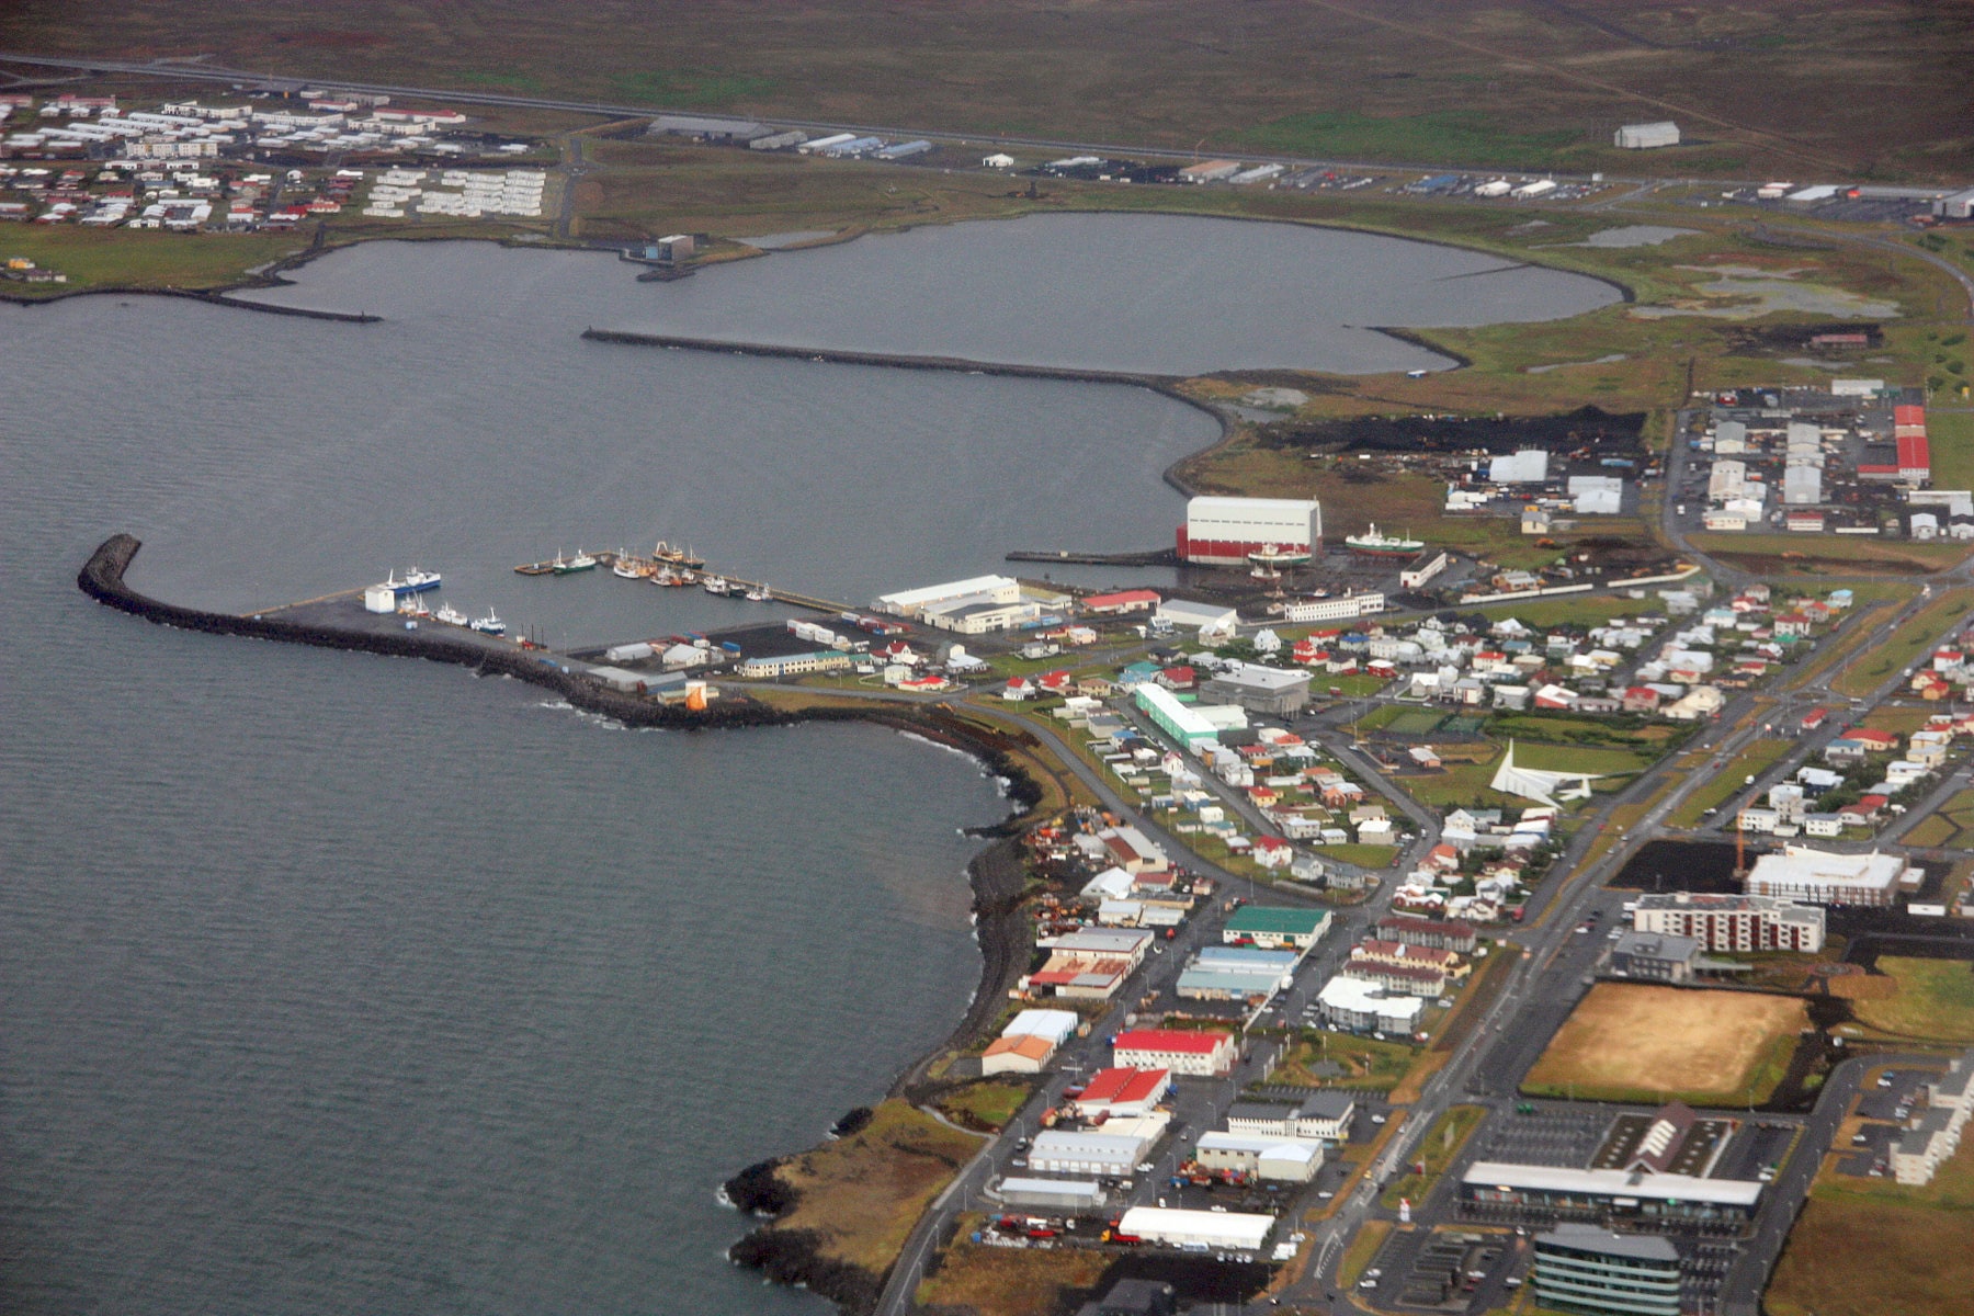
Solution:
[{"label": "brownish-green grass field in the bottom right corner", "polygon": [[1974,1292],[1974,1138],[1925,1188],[1824,1174],[1763,1306],[1771,1316],[1944,1316]]}]

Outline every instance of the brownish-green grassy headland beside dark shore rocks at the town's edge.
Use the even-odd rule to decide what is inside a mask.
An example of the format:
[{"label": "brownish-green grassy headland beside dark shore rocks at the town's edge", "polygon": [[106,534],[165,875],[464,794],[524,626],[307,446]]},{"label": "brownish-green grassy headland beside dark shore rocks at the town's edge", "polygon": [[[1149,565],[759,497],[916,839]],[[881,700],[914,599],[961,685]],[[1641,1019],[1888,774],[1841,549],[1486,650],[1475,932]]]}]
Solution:
[{"label": "brownish-green grassy headland beside dark shore rocks at the town's edge", "polygon": [[884,1101],[867,1129],[782,1166],[799,1200],[774,1229],[815,1229],[825,1255],[882,1275],[926,1204],[979,1148],[977,1136]]}]

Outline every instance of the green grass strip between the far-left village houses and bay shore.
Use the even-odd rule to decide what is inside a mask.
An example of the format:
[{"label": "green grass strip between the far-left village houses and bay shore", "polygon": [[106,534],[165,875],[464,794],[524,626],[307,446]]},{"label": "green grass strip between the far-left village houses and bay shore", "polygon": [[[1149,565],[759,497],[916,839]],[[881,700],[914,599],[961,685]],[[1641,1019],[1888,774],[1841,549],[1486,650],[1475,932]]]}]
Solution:
[{"label": "green grass strip between the far-left village houses and bay shore", "polygon": [[203,292],[241,282],[247,270],[308,247],[296,233],[164,233],[79,229],[73,225],[0,227],[0,260],[26,256],[69,276],[65,284],[0,284],[0,292],[53,298],[89,288],[188,288]]}]

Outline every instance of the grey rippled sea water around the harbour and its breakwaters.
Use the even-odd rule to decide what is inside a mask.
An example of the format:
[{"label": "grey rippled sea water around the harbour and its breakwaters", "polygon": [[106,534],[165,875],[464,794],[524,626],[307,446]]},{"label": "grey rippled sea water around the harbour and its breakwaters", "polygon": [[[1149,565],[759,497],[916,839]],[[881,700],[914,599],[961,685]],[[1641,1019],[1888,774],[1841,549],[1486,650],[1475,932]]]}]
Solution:
[{"label": "grey rippled sea water around the harbour and its breakwaters", "polygon": [[[1082,268],[1056,247],[1090,249],[1084,225],[977,229],[969,258],[1034,233],[1054,278]],[[278,294],[375,326],[0,308],[0,1308],[817,1310],[724,1265],[744,1221],[713,1188],[961,1012],[955,827],[1005,807],[971,762],[871,728],[626,732],[454,669],[150,627],[73,576],[114,531],[146,541],[138,588],[225,610],[418,564],[572,641],[772,614],[515,562],[665,537],[865,602],[1011,547],[1169,543],[1159,472],[1214,434],[1169,399],[578,337],[908,329],[1003,355],[1025,314],[969,322],[924,282],[951,241],[669,286],[385,245]],[[831,292],[892,260],[888,292]],[[1145,367],[1169,335],[1222,363],[1218,310],[1175,312],[1200,266],[1173,278],[1092,363]]]}]

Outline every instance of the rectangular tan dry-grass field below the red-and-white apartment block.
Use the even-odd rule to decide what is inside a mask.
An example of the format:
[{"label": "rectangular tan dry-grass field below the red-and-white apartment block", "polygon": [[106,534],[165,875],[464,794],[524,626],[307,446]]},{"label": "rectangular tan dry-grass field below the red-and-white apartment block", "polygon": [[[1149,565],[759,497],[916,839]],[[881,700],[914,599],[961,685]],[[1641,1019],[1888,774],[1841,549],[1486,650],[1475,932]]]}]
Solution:
[{"label": "rectangular tan dry-grass field below the red-and-white apartment block", "polygon": [[1589,1101],[1767,1101],[1808,1010],[1790,996],[1599,983],[1522,1089]]}]

